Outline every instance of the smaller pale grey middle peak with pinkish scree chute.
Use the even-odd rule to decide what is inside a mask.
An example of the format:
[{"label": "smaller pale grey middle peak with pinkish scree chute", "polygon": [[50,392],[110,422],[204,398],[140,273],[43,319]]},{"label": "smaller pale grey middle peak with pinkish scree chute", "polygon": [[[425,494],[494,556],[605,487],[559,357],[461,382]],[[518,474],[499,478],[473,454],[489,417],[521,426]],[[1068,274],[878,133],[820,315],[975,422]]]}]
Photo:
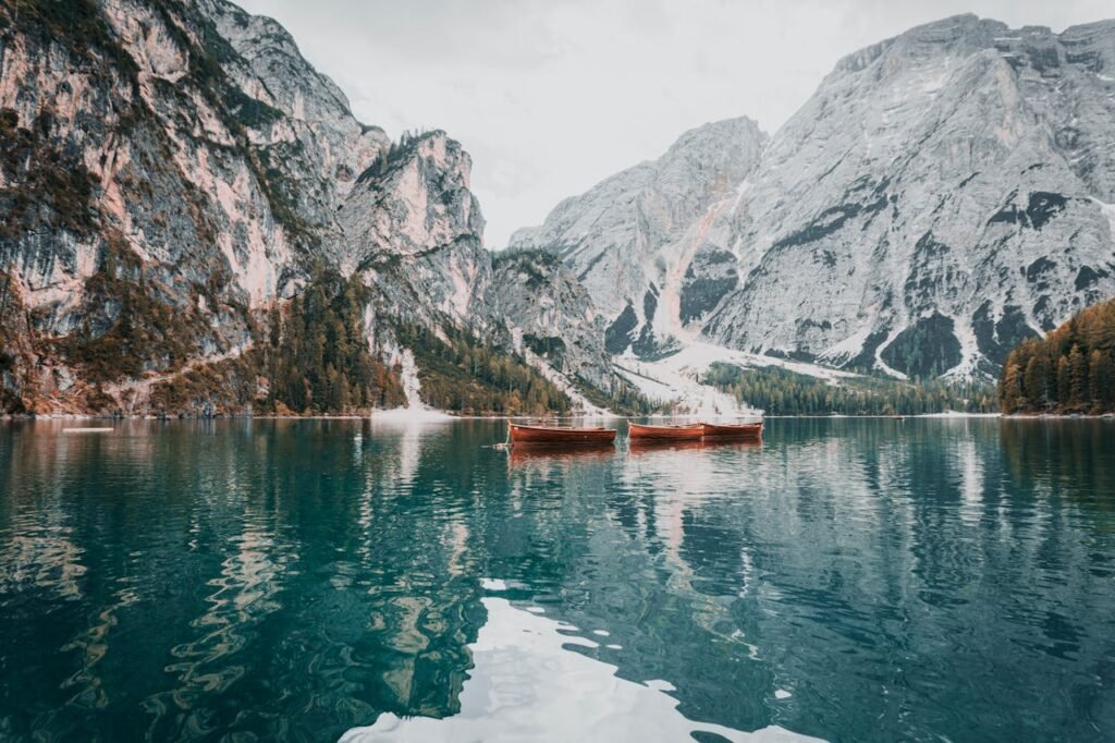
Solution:
[{"label": "smaller pale grey middle peak with pinkish scree chute", "polygon": [[720,204],[756,167],[766,141],[748,118],[687,132],[657,161],[566,199],[541,226],[516,231],[511,247],[562,258],[607,318],[611,353],[633,345],[652,354],[715,303],[711,287],[697,288],[702,298],[687,292],[686,276]]}]

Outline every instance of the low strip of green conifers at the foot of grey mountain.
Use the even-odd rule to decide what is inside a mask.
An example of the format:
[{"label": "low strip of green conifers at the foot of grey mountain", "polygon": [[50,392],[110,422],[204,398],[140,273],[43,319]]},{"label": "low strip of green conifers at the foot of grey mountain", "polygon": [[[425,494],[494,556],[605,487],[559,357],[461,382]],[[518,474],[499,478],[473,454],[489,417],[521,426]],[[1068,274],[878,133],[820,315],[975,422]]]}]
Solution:
[{"label": "low strip of green conifers at the foot of grey mountain", "polygon": [[996,412],[993,390],[980,384],[909,383],[854,377],[831,385],[824,379],[770,366],[741,369],[714,364],[705,384],[767,415],[919,415],[957,411]]}]

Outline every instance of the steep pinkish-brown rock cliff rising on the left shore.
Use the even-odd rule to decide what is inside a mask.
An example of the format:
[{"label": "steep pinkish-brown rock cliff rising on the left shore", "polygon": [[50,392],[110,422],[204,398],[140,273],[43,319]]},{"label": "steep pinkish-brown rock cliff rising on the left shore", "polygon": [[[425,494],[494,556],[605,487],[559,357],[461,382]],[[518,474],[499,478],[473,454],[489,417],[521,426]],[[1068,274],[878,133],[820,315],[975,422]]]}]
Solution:
[{"label": "steep pinkish-brown rock cliff rising on the left shore", "polygon": [[251,387],[249,351],[321,271],[367,288],[385,364],[404,325],[512,353],[469,171],[443,132],[359,123],[278,23],[223,0],[0,7],[6,408],[142,412],[149,377],[231,359]]}]

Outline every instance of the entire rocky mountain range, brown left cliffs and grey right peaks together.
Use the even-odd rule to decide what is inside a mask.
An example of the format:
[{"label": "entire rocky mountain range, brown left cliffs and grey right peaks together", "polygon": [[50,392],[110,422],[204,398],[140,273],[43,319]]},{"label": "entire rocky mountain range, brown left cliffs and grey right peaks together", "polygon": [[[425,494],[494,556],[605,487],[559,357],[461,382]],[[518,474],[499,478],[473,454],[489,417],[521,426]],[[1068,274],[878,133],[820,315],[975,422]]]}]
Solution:
[{"label": "entire rocky mountain range, brown left cliffs and grey right peaks together", "polygon": [[993,375],[1115,296],[1115,22],[912,29],[502,253],[471,167],[224,0],[0,7],[3,409],[594,409],[698,346]]}]

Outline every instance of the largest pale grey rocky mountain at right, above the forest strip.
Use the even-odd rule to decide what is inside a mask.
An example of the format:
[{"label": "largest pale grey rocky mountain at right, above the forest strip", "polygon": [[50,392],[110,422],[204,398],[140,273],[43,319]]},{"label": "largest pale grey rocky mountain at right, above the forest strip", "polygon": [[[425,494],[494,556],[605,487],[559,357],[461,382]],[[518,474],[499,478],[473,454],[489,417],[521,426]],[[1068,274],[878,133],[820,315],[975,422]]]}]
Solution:
[{"label": "largest pale grey rocky mountain at right, above the forest strip", "polygon": [[1115,295],[1115,22],[950,18],[842,60],[780,129],[724,242],[735,347],[990,374]]}]

